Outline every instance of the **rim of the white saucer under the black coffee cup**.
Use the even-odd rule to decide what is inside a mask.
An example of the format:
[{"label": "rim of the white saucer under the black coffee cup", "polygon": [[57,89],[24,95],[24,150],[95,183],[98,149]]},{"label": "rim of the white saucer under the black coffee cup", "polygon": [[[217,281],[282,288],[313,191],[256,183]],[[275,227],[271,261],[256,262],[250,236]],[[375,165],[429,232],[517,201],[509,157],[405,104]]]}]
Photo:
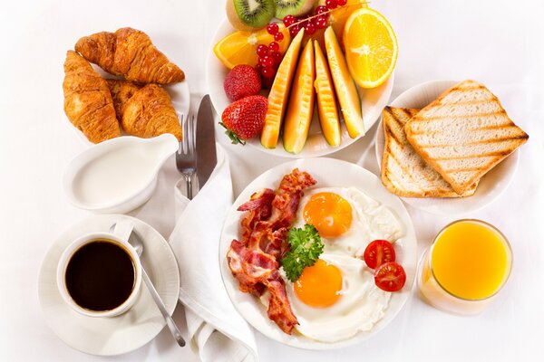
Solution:
[{"label": "rim of the white saucer under the black coffee cup", "polygon": [[[44,298],[45,298],[45,294],[47,293],[47,291],[44,291],[44,278],[46,278],[44,276],[44,273],[46,272],[45,271],[45,268],[46,268],[46,264],[47,264],[47,258],[50,257],[50,253],[53,252],[53,250],[55,249],[55,247],[57,247],[57,244],[58,243],[61,243],[62,242],[62,239],[63,237],[66,237],[66,234],[67,233],[70,233],[74,228],[76,227],[79,227],[80,229],[83,230],[83,224],[89,220],[92,220],[92,219],[107,219],[107,218],[116,218],[116,219],[119,219],[119,218],[126,218],[126,219],[129,219],[131,221],[133,221],[135,223],[135,227],[137,227],[138,225],[140,225],[141,227],[144,227],[144,228],[147,228],[149,230],[151,230],[153,233],[155,233],[155,235],[157,236],[157,239],[160,240],[160,243],[163,243],[163,246],[165,246],[164,250],[165,251],[168,251],[168,253],[170,253],[170,259],[173,261],[172,264],[169,266],[169,267],[174,267],[175,266],[175,273],[172,273],[172,278],[175,279],[175,289],[172,287],[172,290],[171,292],[173,294],[176,295],[176,302],[173,303],[170,308],[169,306],[167,305],[166,308],[167,308],[167,311],[169,312],[170,316],[173,314],[174,310],[176,309],[177,305],[178,305],[178,302],[179,302],[179,299],[180,299],[180,267],[178,265],[178,262],[177,262],[177,259],[175,257],[175,254],[173,253],[173,251],[171,250],[171,247],[170,247],[170,243],[168,243],[168,241],[155,229],[153,228],[150,224],[147,224],[146,222],[136,218],[136,217],[133,217],[133,216],[130,216],[130,215],[126,215],[126,214],[92,214],[92,215],[88,215],[86,217],[83,217],[82,219],[79,219],[78,221],[76,221],[75,223],[67,226],[66,228],[63,229],[63,231],[61,233],[58,233],[55,237],[55,239],[53,240],[53,242],[49,245],[49,248],[47,249],[47,252],[45,252],[45,256],[44,256],[44,259],[42,260],[42,263],[40,265],[40,269],[39,269],[39,272],[38,272],[38,276],[37,276],[37,298],[38,298],[38,303],[40,305],[40,311],[42,313],[42,318],[44,319],[44,322],[45,324],[49,327],[49,329],[51,329],[54,333],[54,335],[59,338],[60,340],[63,341],[63,343],[70,347],[70,348],[73,348],[75,350],[78,350],[80,352],[83,352],[85,354],[88,354],[88,355],[91,355],[91,356],[104,356],[104,357],[109,357],[109,356],[119,356],[119,355],[122,355],[122,354],[125,354],[125,353],[129,353],[131,351],[134,351],[138,348],[141,348],[143,346],[145,346],[146,344],[150,343],[151,340],[153,340],[154,338],[156,338],[160,331],[162,329],[164,329],[164,326],[166,326],[166,319],[160,319],[160,328],[156,328],[156,331],[153,331],[151,334],[150,334],[150,338],[147,339],[147,340],[142,340],[141,343],[138,343],[138,344],[134,344],[132,346],[129,346],[128,348],[118,348],[114,351],[106,351],[106,352],[103,352],[103,351],[92,351],[90,349],[85,349],[85,348],[78,348],[76,346],[73,346],[72,344],[70,344],[67,340],[65,340],[64,338],[62,338],[56,331],[56,329],[53,328],[53,323],[51,322],[51,319],[50,318],[47,318],[46,317],[46,313],[44,312]],[[55,276],[55,285],[56,285],[56,276]],[[171,281],[169,281],[171,282]],[[168,283],[167,283],[168,285]],[[145,288],[144,288],[145,289]],[[58,291],[54,291],[55,293],[57,293]],[[140,291],[140,293],[142,293],[142,291]],[[169,291],[170,293],[170,291]],[[141,295],[138,297],[138,300],[136,301],[136,303],[141,302],[141,298],[143,298]],[[154,305],[154,301],[151,299],[151,295],[149,296],[149,299],[148,302],[150,302],[150,304],[152,303]],[[92,319],[92,317],[85,317],[87,319]]]}]

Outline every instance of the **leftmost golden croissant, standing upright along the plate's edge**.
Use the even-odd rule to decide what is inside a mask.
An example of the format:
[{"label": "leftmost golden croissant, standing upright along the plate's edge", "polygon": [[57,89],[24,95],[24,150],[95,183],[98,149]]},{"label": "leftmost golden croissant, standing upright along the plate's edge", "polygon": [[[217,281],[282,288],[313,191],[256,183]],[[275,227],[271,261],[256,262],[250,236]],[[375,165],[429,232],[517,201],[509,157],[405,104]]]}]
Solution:
[{"label": "leftmost golden croissant, standing upright along the plate's edge", "polygon": [[121,136],[108,83],[73,51],[64,62],[64,112],[92,142]]}]

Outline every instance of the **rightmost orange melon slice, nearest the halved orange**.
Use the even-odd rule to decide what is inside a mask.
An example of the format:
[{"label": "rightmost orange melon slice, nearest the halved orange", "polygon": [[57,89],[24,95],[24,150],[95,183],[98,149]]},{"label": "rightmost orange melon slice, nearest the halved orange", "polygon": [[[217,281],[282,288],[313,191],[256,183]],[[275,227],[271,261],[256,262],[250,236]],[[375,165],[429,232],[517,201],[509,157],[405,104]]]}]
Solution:
[{"label": "rightmost orange melon slice, nearest the halved orange", "polygon": [[364,124],[361,99],[355,81],[347,69],[344,53],[340,48],[335,31],[330,26],[325,30],[325,48],[329,68],[335,83],[336,97],[344,116],[347,133],[351,138],[363,136]]}]

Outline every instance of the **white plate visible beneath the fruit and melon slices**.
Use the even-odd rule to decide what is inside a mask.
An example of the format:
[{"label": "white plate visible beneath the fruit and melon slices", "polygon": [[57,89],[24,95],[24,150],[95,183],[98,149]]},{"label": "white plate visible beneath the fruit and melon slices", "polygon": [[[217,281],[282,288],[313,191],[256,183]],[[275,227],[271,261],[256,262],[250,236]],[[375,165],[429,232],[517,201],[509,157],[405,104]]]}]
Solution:
[{"label": "white plate visible beneath the fruit and melon slices", "polygon": [[[213,46],[219,42],[222,38],[227,36],[229,33],[234,32],[234,28],[228,23],[227,19],[223,23],[219,24],[219,29],[215,33],[213,40],[210,44],[210,49],[208,53],[208,61],[206,64],[206,76],[208,81],[209,88],[209,97],[213,103],[213,107],[218,112],[219,116],[223,113],[230,104],[230,101],[225,95],[225,90],[223,90],[223,81],[228,74],[228,69],[219,61],[213,52]],[[393,90],[393,81],[394,81],[394,72],[391,74],[389,79],[384,82],[381,86],[374,88],[372,90],[364,90],[359,88],[359,94],[361,95],[361,103],[363,108],[363,122],[364,129],[368,131],[375,121],[380,117],[382,110],[384,110],[387,101],[391,97],[391,91]],[[334,148],[329,146],[326,143],[325,138],[322,135],[321,127],[319,126],[319,119],[317,117],[317,112],[314,112],[314,119],[312,120],[312,125],[310,126],[310,131],[308,138],[306,140],[306,145],[302,152],[297,155],[287,152],[283,148],[281,136],[278,139],[277,147],[274,149],[264,148],[260,144],[260,139],[254,138],[248,141],[248,145],[251,147],[258,148],[263,152],[269,153],[271,155],[281,156],[281,157],[292,157],[292,158],[302,158],[302,157],[319,157],[328,155],[330,153],[339,151],[342,148],[345,148],[359,138],[350,138],[347,134],[347,129],[345,129],[344,122],[341,123],[342,126],[342,143],[339,147]],[[217,126],[220,127],[220,126]],[[223,132],[221,132],[223,133]]]}]

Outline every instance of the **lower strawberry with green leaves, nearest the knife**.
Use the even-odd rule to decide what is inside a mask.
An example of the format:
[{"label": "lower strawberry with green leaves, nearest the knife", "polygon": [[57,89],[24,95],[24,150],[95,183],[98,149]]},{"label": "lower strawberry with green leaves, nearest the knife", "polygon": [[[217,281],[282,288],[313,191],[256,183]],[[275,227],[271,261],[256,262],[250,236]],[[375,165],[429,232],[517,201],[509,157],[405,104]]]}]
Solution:
[{"label": "lower strawberry with green leaves, nearest the knife", "polygon": [[248,96],[230,104],[221,115],[219,124],[227,129],[225,132],[232,144],[246,144],[246,140],[254,138],[265,125],[268,100],[263,96]]}]

